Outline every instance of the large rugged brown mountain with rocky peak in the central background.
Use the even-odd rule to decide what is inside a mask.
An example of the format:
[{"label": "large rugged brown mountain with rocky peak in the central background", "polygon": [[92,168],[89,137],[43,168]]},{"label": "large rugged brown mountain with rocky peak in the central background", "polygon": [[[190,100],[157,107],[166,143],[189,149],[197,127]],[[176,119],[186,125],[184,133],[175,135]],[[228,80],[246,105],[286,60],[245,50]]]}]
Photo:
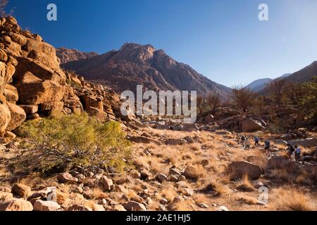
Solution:
[{"label": "large rugged brown mountain with rocky peak in the central background", "polygon": [[211,92],[223,97],[230,91],[151,45],[126,43],[119,51],[65,63],[62,67],[111,86],[116,91],[134,91],[137,84],[154,91],[197,90],[199,94]]}]

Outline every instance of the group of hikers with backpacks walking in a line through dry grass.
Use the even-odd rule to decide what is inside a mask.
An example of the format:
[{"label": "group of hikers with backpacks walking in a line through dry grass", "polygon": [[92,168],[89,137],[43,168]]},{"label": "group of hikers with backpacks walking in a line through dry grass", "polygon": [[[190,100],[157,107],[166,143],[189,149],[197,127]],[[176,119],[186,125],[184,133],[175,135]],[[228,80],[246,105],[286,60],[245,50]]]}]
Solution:
[{"label": "group of hikers with backpacks walking in a line through dry grass", "polygon": [[[242,144],[242,147],[244,149],[250,149],[251,143],[248,136],[244,136],[243,134],[237,134],[237,143]],[[258,136],[254,136],[254,146],[259,147],[260,146],[260,139]],[[266,150],[266,153],[268,157],[271,155],[271,142],[266,140],[264,141],[264,149]],[[302,150],[299,148],[299,146],[292,146],[289,143],[287,143],[287,155],[290,161],[292,161],[292,155],[294,155],[295,161],[299,162],[302,159]],[[316,146],[316,152],[315,152],[315,158],[317,159],[317,146]]]}]

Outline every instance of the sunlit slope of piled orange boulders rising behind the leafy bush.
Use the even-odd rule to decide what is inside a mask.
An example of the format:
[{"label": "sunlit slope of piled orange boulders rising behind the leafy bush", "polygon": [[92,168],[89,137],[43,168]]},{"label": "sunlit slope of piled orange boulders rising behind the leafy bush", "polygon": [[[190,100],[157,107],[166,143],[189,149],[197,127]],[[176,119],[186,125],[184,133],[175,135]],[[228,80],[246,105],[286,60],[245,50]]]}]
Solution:
[{"label": "sunlit slope of piled orange boulders rising behind the leafy bush", "polygon": [[11,131],[25,120],[55,113],[85,110],[101,120],[118,120],[120,99],[113,91],[64,72],[55,48],[38,34],[21,30],[15,18],[1,18],[0,27],[2,141],[12,139]]}]

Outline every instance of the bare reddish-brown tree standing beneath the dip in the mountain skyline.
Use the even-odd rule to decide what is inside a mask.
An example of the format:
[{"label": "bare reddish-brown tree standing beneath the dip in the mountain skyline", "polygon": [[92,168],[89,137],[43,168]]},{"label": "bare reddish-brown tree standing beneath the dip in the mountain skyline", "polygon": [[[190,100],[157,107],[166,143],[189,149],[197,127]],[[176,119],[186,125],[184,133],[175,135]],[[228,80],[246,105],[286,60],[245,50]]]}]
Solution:
[{"label": "bare reddish-brown tree standing beneath the dip in the mountain skyline", "polygon": [[249,108],[254,104],[256,94],[246,86],[234,86],[232,88],[231,98],[238,108],[246,113]]}]

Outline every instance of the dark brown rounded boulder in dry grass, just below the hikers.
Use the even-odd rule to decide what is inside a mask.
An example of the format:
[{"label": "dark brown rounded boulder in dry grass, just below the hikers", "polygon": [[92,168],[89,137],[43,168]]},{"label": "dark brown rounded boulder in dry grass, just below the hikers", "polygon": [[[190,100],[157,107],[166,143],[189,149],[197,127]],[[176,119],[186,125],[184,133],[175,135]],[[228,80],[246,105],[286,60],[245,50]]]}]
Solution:
[{"label": "dark brown rounded boulder in dry grass, just below the hikers", "polygon": [[258,179],[263,174],[263,169],[250,162],[231,162],[228,166],[228,173],[234,179],[242,179],[244,176],[249,179]]}]

